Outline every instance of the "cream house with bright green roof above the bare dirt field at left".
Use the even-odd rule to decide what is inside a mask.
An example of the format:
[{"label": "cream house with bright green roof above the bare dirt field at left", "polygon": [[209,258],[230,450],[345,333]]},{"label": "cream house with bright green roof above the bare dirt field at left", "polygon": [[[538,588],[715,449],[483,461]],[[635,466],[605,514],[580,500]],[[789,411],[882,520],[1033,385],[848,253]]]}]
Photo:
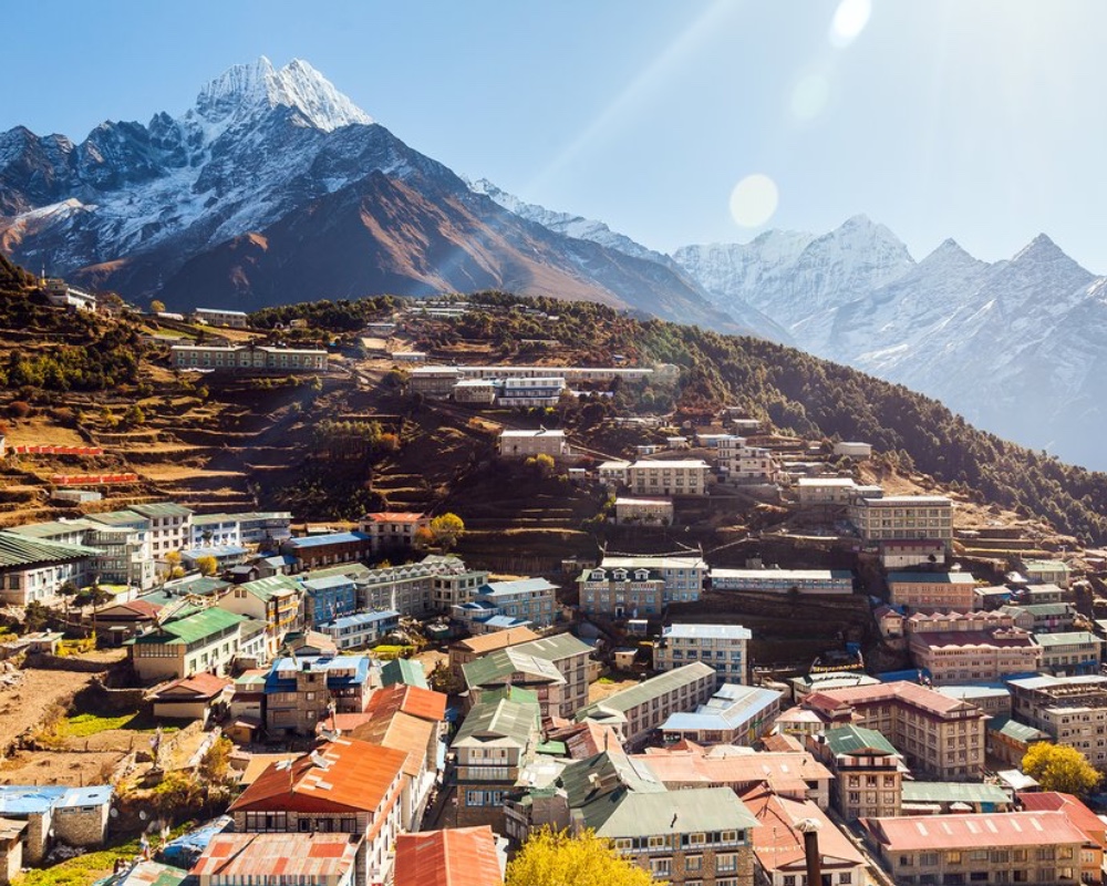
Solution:
[{"label": "cream house with bright green roof above the bare dirt field at left", "polygon": [[[168,608],[168,607],[166,607]],[[246,619],[217,607],[188,607],[127,641],[131,663],[143,682],[209,671],[221,674],[238,655]]]}]

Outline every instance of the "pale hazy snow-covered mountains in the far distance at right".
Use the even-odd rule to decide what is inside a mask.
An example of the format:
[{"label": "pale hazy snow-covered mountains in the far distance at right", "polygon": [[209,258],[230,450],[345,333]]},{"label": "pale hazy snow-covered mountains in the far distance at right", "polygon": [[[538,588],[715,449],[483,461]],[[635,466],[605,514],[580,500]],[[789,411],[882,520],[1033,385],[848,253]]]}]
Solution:
[{"label": "pale hazy snow-covered mountains in the far distance at right", "polygon": [[984,429],[1107,470],[1107,280],[1041,235],[987,264],[946,240],[915,264],[863,216],[821,237],[687,246],[721,307],[773,317],[811,353],[935,396]]}]

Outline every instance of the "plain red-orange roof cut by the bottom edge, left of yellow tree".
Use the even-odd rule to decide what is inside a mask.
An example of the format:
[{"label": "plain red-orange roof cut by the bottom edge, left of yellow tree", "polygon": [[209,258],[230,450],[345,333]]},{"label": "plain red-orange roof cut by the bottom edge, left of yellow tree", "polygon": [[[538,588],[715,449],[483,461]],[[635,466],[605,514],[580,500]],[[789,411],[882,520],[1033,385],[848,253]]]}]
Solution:
[{"label": "plain red-orange roof cut by the bottom edge, left of yellow tree", "polygon": [[488,825],[396,837],[395,886],[500,886],[504,875]]}]

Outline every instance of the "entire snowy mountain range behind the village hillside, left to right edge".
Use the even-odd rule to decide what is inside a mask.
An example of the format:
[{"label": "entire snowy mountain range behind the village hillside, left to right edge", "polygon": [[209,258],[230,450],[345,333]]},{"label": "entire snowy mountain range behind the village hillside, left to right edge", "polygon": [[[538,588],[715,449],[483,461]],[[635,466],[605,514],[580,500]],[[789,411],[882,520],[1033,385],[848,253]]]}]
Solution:
[{"label": "entire snowy mountain range behind the village hillside, left to right edge", "polygon": [[[672,256],[408,147],[302,61],[239,65],[183,115],[80,144],[0,134],[0,250],[175,308],[500,288],[795,344],[1107,468],[1107,281],[1042,235],[921,261],[863,216]],[[919,429],[925,433],[927,429]]]}]

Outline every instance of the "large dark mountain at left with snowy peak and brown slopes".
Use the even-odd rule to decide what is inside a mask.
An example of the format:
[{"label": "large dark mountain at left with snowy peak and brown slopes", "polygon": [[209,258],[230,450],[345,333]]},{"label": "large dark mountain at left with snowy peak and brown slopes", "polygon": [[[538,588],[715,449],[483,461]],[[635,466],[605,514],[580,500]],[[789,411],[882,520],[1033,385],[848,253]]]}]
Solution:
[{"label": "large dark mountain at left with snowy peak and brown slopes", "polygon": [[672,262],[505,212],[299,60],[81,144],[0,134],[0,249],[175,308],[501,288],[749,331]]}]

